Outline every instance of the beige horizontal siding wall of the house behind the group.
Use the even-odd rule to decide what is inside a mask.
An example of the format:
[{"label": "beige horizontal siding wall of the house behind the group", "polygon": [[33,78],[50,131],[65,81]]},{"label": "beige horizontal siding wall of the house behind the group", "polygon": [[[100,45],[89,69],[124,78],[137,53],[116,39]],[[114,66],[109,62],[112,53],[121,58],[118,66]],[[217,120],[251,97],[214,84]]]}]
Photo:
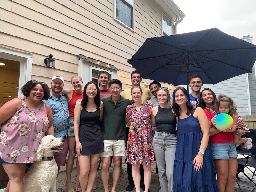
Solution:
[{"label": "beige horizontal siding wall of the house behind the group", "polygon": [[[32,53],[32,78],[40,81],[60,75],[71,88],[80,53],[118,68],[125,89],[134,70],[126,61],[146,38],[162,35],[161,7],[154,0],[135,0],[134,7],[132,31],[113,19],[114,0],[1,0],[0,45]],[[50,53],[54,69],[44,64]]]}]

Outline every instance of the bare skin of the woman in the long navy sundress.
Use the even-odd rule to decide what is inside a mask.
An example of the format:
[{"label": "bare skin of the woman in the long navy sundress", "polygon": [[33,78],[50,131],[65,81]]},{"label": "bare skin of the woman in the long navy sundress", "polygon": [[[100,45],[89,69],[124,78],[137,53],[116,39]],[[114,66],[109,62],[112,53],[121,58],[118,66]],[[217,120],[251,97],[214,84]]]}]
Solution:
[{"label": "bare skin of the woman in the long navy sundress", "polygon": [[[175,102],[180,106],[180,109],[181,109],[180,116],[179,116],[180,119],[185,119],[191,115],[191,114],[188,114],[188,115],[186,114],[187,110],[188,110],[187,105],[186,105],[187,100],[188,100],[188,98],[186,97],[186,95],[184,94],[184,92],[182,90],[176,91]],[[208,146],[208,142],[209,142],[209,128],[208,128],[207,117],[202,108],[196,108],[195,112],[193,113],[193,116],[198,119],[200,127],[201,127],[201,131],[203,133],[201,145],[198,150],[205,151]],[[178,122],[178,117],[176,117],[176,121]],[[194,170],[199,171],[200,168],[203,167],[203,158],[204,158],[204,155],[202,153],[198,152],[198,154],[195,156],[195,158],[193,160],[193,164],[195,164],[193,167]]]}]

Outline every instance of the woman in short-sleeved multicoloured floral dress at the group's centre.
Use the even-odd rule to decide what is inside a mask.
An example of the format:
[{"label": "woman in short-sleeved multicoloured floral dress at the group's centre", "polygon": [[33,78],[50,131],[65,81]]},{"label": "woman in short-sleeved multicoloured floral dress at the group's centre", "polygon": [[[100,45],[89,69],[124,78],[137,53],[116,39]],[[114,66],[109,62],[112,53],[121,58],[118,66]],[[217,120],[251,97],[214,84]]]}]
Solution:
[{"label": "woman in short-sleeved multicoloured floral dress at the group's centre", "polygon": [[131,89],[132,104],[126,108],[126,123],[130,120],[127,141],[126,162],[132,164],[132,178],[136,192],[140,191],[140,164],[144,169],[145,192],[151,182],[151,163],[154,163],[154,149],[150,114],[152,107],[141,100],[142,90],[139,86]]}]

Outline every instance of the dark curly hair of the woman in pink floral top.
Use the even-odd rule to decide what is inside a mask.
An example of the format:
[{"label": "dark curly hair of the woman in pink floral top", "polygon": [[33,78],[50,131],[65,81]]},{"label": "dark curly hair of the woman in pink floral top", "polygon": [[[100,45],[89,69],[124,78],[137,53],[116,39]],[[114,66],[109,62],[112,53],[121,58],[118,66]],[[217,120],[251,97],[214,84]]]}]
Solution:
[{"label": "dark curly hair of the woman in pink floral top", "polygon": [[37,81],[28,81],[26,84],[23,85],[23,87],[21,88],[21,93],[25,96],[28,97],[30,91],[37,85],[40,84],[44,90],[44,97],[42,98],[42,100],[47,100],[50,96],[50,89],[48,87],[48,85],[46,83],[40,83]]}]

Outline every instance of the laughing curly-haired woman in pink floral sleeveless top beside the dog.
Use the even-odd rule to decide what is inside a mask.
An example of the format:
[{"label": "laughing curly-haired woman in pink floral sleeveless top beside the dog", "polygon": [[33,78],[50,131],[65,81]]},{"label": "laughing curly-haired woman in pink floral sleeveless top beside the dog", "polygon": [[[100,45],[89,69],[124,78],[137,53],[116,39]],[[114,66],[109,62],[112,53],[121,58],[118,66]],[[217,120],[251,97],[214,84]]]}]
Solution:
[{"label": "laughing curly-haired woman in pink floral sleeveless top beside the dog", "polygon": [[10,192],[24,192],[26,163],[35,162],[36,151],[44,135],[54,135],[52,110],[41,100],[49,97],[44,82],[28,81],[21,92],[0,108],[0,164],[9,176]]}]

